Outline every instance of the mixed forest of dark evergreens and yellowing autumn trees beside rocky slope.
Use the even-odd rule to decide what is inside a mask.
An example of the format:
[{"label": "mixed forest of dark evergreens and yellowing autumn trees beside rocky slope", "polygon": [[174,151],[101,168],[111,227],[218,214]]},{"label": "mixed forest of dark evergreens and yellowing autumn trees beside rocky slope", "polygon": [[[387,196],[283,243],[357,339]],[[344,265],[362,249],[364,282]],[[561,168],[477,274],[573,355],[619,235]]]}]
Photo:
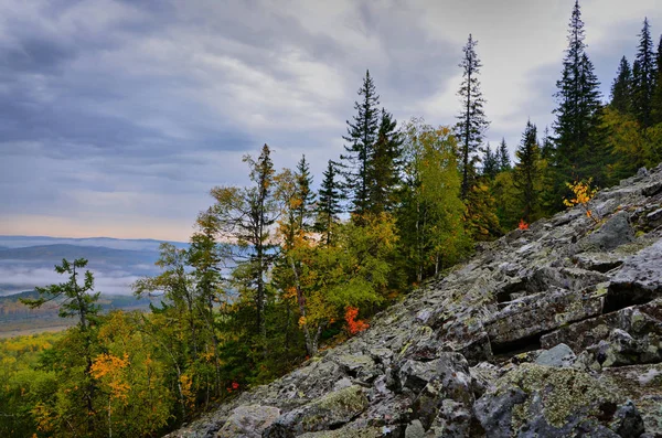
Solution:
[{"label": "mixed forest of dark evergreens and yellowing autumn trees beside rocky slope", "polygon": [[161,274],[134,285],[136,297],[161,297],[150,312],[102,312],[87,260],[63,260],[63,282],[24,303],[57,298],[76,323],[0,340],[0,435],[161,436],[356,335],[477,243],[661,162],[662,38],[655,47],[643,21],[608,98],[578,3],[567,41],[555,122],[522,120],[514,159],[505,140],[485,145],[469,35],[457,120],[398,122],[366,71],[344,152],[322,175],[306,157],[274,169],[268,145],[245,156],[250,184],[212,188],[190,247],[161,245]]}]

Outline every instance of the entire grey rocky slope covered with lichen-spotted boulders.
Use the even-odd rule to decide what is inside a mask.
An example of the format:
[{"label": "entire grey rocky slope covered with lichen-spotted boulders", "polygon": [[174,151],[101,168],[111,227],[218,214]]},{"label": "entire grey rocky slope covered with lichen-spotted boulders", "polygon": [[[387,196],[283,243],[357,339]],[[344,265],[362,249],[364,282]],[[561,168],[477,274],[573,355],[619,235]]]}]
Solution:
[{"label": "entire grey rocky slope covered with lichen-spotted boulders", "polygon": [[662,437],[662,165],[172,437]]}]

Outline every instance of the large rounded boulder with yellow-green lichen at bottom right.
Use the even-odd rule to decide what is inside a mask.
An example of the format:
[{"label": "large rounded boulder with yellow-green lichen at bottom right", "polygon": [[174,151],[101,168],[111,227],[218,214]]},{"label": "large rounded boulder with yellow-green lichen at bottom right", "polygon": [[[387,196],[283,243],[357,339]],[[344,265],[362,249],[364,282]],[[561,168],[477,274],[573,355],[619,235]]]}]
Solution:
[{"label": "large rounded boulder with yellow-green lichen at bottom right", "polygon": [[626,397],[590,375],[528,363],[501,377],[477,400],[474,413],[495,438],[618,437],[641,419]]}]

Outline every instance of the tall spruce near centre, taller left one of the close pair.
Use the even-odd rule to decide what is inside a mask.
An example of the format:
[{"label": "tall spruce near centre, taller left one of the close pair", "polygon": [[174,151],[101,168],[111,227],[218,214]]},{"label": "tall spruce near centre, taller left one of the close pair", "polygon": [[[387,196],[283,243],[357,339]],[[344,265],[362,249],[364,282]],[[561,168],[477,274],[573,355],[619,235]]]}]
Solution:
[{"label": "tall spruce near centre, taller left one of the close pair", "polygon": [[361,102],[354,103],[357,114],[352,121],[346,121],[348,135],[343,139],[346,154],[340,158],[342,175],[344,178],[343,191],[346,199],[351,200],[351,212],[362,215],[370,207],[370,165],[374,157],[374,146],[380,128],[380,96],[375,85],[365,72],[363,85],[359,89]]}]

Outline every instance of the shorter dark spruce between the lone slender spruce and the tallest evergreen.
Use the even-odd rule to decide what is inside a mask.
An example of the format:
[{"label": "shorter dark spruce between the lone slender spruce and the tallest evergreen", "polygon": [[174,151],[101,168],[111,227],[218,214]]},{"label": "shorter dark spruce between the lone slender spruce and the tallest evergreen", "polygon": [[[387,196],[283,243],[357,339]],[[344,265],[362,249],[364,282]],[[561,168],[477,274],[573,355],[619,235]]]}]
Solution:
[{"label": "shorter dark spruce between the lone slender spruce and the tallest evergreen", "polygon": [[517,162],[514,169],[514,185],[520,193],[522,218],[526,223],[535,220],[538,207],[537,180],[540,178],[537,129],[528,120],[522,133],[522,142],[515,151]]}]

